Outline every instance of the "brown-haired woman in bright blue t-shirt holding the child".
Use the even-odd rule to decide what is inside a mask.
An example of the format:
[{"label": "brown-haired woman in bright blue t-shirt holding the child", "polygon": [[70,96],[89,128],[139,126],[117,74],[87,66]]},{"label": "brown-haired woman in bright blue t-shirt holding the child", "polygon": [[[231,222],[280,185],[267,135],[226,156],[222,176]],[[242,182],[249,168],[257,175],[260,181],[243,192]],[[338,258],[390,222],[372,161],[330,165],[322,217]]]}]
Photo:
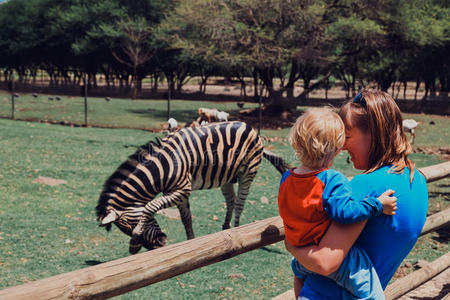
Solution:
[{"label": "brown-haired woman in bright blue t-shirt holding the child", "polygon": [[[344,104],[344,150],[356,169],[351,181],[355,198],[378,197],[392,189],[397,197],[394,216],[380,215],[356,224],[332,223],[319,245],[286,248],[309,270],[329,275],[337,271],[353,244],[364,249],[383,289],[416,243],[428,208],[426,180],[408,159],[411,146],[402,127],[400,109],[389,94],[363,91]],[[321,275],[306,278],[299,299],[341,299],[342,288]],[[296,297],[298,297],[296,290]]]}]

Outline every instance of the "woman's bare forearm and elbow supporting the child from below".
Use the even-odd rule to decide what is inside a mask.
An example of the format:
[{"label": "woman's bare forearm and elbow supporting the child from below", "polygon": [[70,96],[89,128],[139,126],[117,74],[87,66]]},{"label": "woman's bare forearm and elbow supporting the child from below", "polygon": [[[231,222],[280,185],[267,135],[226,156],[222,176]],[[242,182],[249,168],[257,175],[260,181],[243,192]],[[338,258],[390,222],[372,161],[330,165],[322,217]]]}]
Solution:
[{"label": "woman's bare forearm and elbow supporting the child from below", "polygon": [[327,276],[339,269],[366,223],[332,222],[318,245],[296,247],[285,240],[286,249],[308,270]]}]

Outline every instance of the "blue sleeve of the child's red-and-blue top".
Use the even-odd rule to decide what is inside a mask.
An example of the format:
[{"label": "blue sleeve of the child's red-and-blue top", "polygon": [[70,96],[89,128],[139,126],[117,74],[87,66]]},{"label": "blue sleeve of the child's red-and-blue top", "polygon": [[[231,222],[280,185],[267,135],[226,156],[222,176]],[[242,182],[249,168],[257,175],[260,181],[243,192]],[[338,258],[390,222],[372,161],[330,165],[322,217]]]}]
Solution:
[{"label": "blue sleeve of the child's red-and-blue top", "polygon": [[348,179],[334,171],[324,178],[323,208],[336,222],[356,223],[381,214],[383,206],[375,197],[352,194]]}]

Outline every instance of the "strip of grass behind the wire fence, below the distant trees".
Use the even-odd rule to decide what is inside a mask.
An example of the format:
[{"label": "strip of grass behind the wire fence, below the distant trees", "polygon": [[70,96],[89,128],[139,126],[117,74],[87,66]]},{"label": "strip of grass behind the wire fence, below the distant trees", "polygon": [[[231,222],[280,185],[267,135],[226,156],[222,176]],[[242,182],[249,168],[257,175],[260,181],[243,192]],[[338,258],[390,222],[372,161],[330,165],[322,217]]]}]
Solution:
[{"label": "strip of grass behind the wire fence, below the distant trees", "polygon": [[[50,101],[48,97],[22,94],[15,99],[15,118],[84,124],[84,98],[61,96],[60,101]],[[255,106],[245,104],[245,108]],[[182,125],[198,117],[199,107],[228,111],[231,116],[239,109],[235,102],[171,100],[170,116]],[[0,93],[0,117],[11,117],[11,96],[7,93]],[[88,98],[88,124],[92,126],[161,129],[161,124],[166,122],[167,100],[113,98],[107,102],[104,98]]]}]

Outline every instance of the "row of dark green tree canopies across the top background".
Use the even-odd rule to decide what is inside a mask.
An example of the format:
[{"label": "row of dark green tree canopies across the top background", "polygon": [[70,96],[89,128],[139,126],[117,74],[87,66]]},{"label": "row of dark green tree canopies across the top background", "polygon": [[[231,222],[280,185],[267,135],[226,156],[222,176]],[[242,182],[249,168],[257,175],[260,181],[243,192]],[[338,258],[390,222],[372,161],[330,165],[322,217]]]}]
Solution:
[{"label": "row of dark green tree canopies across the top background", "polygon": [[[51,84],[82,73],[132,85],[165,76],[252,77],[295,105],[330,79],[348,94],[424,82],[448,95],[450,8],[442,0],[10,0],[0,4],[0,68]],[[73,74],[69,76],[68,74]],[[277,80],[276,80],[277,79]],[[334,79],[332,81],[334,81]],[[296,83],[304,92],[293,94]],[[276,85],[276,83],[279,83]],[[114,84],[114,81],[112,81]],[[155,86],[156,88],[156,86]],[[202,91],[202,87],[200,87]],[[256,93],[255,93],[256,96]],[[295,97],[294,97],[295,96]]]}]

